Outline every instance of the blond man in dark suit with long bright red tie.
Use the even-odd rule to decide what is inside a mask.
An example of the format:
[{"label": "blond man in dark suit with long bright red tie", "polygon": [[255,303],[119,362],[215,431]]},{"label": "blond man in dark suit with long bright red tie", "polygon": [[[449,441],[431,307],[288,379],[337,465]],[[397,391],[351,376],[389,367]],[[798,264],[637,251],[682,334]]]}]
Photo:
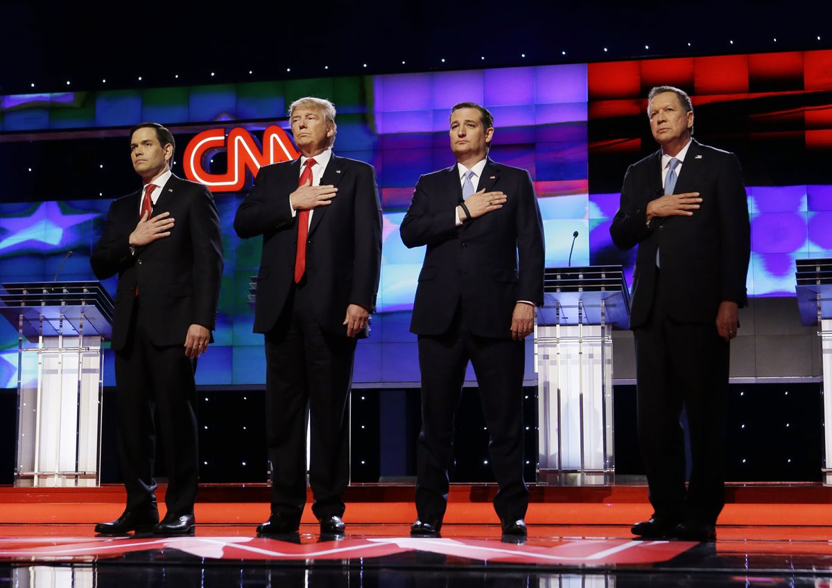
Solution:
[{"label": "blond man in dark suit with long bright red tie", "polygon": [[309,421],[312,511],[321,533],[337,535],[355,345],[368,336],[379,289],[381,209],[373,167],[332,152],[331,102],[301,98],[290,122],[300,158],[261,168],[234,221],[244,239],[263,235],[254,330],[265,334],[272,492],[271,516],[257,532],[298,530]]}]

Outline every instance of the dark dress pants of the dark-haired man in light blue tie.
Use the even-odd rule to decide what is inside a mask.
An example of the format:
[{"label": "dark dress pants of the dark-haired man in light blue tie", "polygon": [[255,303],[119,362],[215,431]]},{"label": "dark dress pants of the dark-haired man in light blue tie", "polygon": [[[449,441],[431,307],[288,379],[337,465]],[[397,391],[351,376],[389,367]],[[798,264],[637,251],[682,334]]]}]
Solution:
[{"label": "dark dress pants of the dark-haired man in light blue tie", "polygon": [[468,361],[477,376],[488,426],[494,477],[499,490],[494,510],[501,521],[526,516],[523,482],[522,375],[525,344],[511,338],[471,334],[461,309],[438,336],[419,335],[422,373],[422,431],[416,449],[416,510],[420,521],[441,522],[448,502],[448,466],[453,459],[453,418]]}]

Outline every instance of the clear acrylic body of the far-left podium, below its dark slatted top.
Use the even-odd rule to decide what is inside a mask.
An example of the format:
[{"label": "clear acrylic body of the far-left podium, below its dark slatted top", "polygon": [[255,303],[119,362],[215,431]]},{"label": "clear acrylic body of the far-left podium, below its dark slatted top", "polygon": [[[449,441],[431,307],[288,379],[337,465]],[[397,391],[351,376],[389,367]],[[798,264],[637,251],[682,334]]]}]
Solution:
[{"label": "clear acrylic body of the far-left podium, below its dark slatted top", "polygon": [[102,336],[85,335],[84,314],[72,307],[54,319],[37,308],[21,310],[14,483],[97,486]]}]

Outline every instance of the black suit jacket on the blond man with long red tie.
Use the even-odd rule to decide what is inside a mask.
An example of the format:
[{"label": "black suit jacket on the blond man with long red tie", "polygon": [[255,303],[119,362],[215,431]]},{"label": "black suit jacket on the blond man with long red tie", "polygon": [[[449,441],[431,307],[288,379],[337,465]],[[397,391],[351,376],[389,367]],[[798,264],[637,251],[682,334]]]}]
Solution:
[{"label": "black suit jacket on the blond man with long red tie", "polygon": [[[257,275],[255,333],[272,329],[295,283],[297,215],[289,195],[297,190],[300,159],[260,168],[234,220],[242,238],[263,235]],[[375,309],[381,269],[381,206],[372,166],[333,153],[320,180],[338,194],[314,209],[306,245],[304,295],[311,297],[319,324],[346,334],[349,304]],[[358,335],[367,336],[367,329]]]}]

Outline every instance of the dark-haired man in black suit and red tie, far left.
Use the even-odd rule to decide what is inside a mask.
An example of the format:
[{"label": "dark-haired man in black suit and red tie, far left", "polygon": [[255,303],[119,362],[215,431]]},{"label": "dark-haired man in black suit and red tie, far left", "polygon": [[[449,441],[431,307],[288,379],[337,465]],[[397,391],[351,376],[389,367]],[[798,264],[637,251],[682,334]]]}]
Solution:
[{"label": "dark-haired man in black suit and red tie, far left", "polygon": [[[171,173],[171,131],[148,122],[133,127],[130,137],[144,187],[113,201],[90,258],[97,278],[118,274],[112,348],[127,490],[124,514],[96,531],[185,534],[194,526],[199,474],[194,369],[216,319],[220,218],[206,186]],[[156,429],[169,477],[161,522],[153,479]]]}]

